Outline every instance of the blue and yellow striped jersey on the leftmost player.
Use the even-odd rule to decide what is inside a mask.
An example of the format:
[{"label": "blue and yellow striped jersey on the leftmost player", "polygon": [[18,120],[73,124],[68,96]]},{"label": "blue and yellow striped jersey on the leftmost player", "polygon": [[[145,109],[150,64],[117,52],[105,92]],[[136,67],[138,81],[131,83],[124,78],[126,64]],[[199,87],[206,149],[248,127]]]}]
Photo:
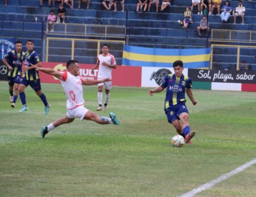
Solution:
[{"label": "blue and yellow striped jersey on the leftmost player", "polygon": [[11,50],[9,53],[5,54],[5,59],[13,70],[8,71],[8,76],[15,77],[21,75],[22,73],[22,62],[24,60],[25,52],[17,53],[16,50]]}]

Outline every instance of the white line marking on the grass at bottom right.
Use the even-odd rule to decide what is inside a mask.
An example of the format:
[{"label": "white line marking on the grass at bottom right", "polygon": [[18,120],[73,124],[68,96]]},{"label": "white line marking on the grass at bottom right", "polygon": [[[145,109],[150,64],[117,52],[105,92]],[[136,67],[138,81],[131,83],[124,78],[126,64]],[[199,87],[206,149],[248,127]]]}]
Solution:
[{"label": "white line marking on the grass at bottom right", "polygon": [[211,187],[213,187],[214,185],[216,185],[217,183],[220,183],[221,181],[225,181],[225,179],[232,177],[233,175],[242,172],[243,170],[245,170],[246,168],[249,168],[251,165],[256,163],[256,158],[247,162],[246,164],[243,164],[241,166],[239,166],[237,169],[232,170],[229,173],[226,174],[222,174],[220,177],[214,179],[213,181],[209,181],[207,183],[205,183],[204,185],[201,185],[200,187],[197,187],[196,189],[193,189],[183,195],[181,195],[180,197],[192,197],[195,196],[197,193],[210,189]]}]

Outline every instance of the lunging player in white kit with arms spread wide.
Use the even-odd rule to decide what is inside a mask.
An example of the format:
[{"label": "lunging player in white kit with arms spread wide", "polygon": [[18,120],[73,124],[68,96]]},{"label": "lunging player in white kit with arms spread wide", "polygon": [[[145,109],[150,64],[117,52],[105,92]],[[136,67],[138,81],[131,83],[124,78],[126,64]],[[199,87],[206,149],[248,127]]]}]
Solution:
[{"label": "lunging player in white kit with arms spread wide", "polygon": [[67,62],[67,71],[59,72],[52,68],[36,67],[36,70],[42,71],[46,74],[53,75],[60,79],[64,89],[64,93],[67,97],[67,114],[64,118],[56,119],[56,121],[50,123],[48,126],[43,126],[41,130],[41,136],[44,138],[49,131],[55,129],[57,126],[71,123],[75,118],[89,120],[97,122],[101,125],[114,124],[119,125],[120,122],[115,117],[115,114],[110,112],[110,118],[100,117],[96,113],[84,107],[84,97],[82,91],[82,85],[94,85],[98,83],[109,82],[110,79],[101,80],[83,80],[79,76],[79,63],[75,60]]}]

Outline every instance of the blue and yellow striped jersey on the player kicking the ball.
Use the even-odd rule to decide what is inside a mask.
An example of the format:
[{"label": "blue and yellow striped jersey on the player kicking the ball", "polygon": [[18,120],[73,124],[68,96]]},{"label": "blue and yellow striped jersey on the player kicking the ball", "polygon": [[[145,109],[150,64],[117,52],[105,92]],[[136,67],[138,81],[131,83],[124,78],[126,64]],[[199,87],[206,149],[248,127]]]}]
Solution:
[{"label": "blue and yellow striped jersey on the player kicking the ball", "polygon": [[177,77],[175,74],[167,75],[162,84],[166,88],[166,100],[164,102],[164,109],[170,108],[173,105],[185,102],[185,89],[192,88],[191,78],[184,76]]}]

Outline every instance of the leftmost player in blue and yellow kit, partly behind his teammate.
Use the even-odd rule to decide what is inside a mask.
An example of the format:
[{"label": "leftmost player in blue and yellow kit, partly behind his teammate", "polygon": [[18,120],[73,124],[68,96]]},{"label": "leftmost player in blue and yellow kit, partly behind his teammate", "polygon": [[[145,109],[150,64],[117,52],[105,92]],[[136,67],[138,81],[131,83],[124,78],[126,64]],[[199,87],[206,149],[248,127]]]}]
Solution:
[{"label": "leftmost player in blue and yellow kit, partly behind his teammate", "polygon": [[[19,94],[19,83],[22,74],[22,62],[25,52],[22,51],[22,42],[15,42],[15,49],[11,50],[3,58],[3,63],[8,67],[8,83],[11,106],[15,107],[15,102]],[[13,89],[14,88],[14,89]],[[13,91],[14,90],[14,91]]]}]

